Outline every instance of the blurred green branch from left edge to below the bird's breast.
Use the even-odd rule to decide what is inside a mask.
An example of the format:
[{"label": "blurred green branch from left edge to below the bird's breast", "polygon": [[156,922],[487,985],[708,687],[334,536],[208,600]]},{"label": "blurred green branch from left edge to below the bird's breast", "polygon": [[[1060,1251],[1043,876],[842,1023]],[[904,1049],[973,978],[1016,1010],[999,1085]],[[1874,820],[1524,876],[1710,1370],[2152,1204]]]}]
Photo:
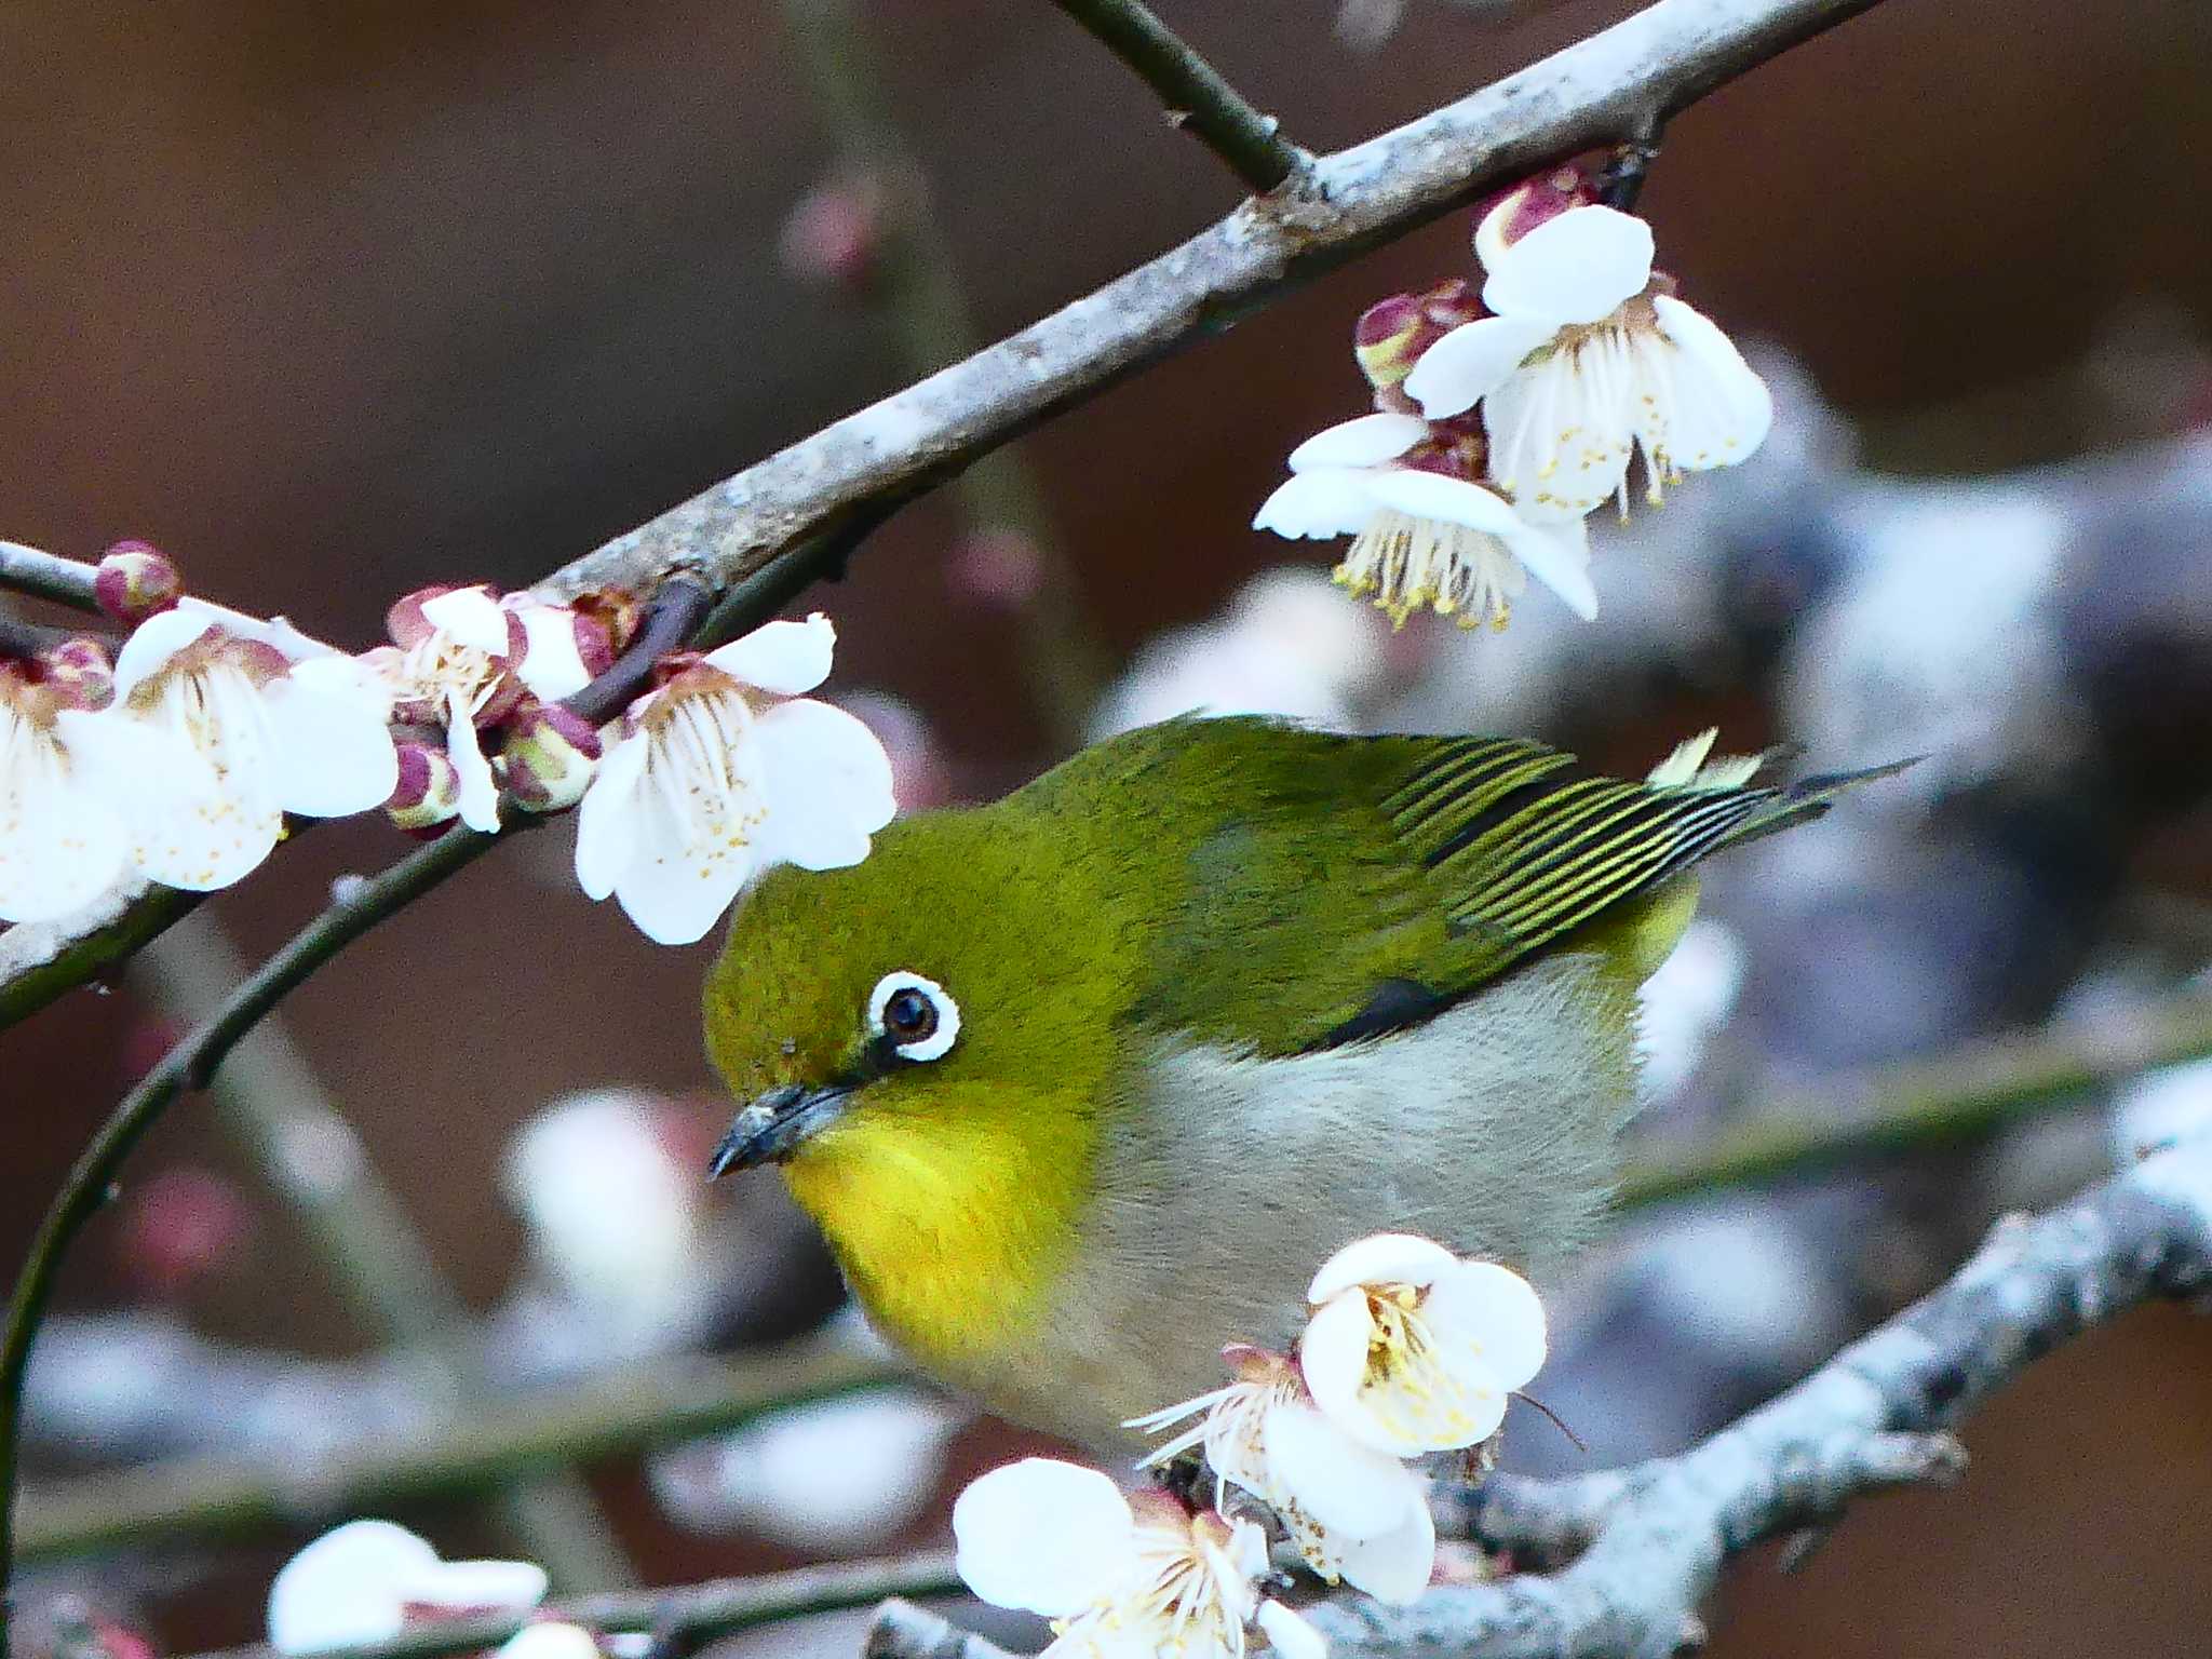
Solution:
[{"label": "blurred green branch from left edge to below the bird's breast", "polygon": [[737,1360],[655,1360],[551,1398],[476,1402],[447,1425],[376,1433],[305,1464],[179,1458],[40,1482],[18,1520],[22,1559],[86,1555],[181,1533],[232,1535],[374,1513],[573,1469],[896,1378],[883,1360],[796,1343]]}]

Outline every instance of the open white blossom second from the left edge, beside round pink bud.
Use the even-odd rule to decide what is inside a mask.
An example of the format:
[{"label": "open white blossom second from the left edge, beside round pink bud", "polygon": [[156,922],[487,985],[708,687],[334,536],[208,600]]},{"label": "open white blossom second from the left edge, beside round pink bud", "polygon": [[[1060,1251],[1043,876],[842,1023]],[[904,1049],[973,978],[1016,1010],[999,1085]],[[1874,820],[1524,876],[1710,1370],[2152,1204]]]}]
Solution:
[{"label": "open white blossom second from the left edge, beside round pink bud", "polygon": [[[179,604],[115,657],[115,701],[82,717],[157,739],[155,770],[108,770],[131,860],[164,887],[212,891],[283,836],[283,816],[383,805],[398,781],[387,706],[349,659],[290,624]],[[142,745],[144,748],[144,745]]]}]

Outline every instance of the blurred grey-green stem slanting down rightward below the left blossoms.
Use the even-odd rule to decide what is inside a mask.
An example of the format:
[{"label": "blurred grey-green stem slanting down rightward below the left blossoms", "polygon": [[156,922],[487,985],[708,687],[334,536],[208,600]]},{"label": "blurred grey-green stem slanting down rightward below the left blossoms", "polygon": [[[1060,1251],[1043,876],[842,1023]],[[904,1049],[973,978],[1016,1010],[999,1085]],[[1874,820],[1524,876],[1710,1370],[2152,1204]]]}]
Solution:
[{"label": "blurred grey-green stem slanting down rightward below the left blossoms", "polygon": [[[212,1018],[248,973],[208,918],[148,945],[139,967],[153,978],[161,1006],[186,1022]],[[369,1334],[409,1347],[456,1405],[480,1402],[487,1380],[467,1310],[283,1024],[263,1020],[243,1037],[210,1093],[217,1124],[299,1217],[323,1270]],[[495,1504],[513,1540],[553,1584],[615,1588],[635,1582],[591,1486],[575,1471],[555,1469],[504,1486]]]}]

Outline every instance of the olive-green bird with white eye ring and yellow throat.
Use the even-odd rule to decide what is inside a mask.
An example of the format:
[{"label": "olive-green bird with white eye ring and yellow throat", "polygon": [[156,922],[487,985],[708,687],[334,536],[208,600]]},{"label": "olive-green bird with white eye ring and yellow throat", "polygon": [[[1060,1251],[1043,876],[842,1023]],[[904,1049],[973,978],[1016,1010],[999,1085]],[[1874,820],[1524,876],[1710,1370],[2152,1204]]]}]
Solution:
[{"label": "olive-green bird with white eye ring and yellow throat", "polygon": [[1898,770],[1701,757],[1183,719],[776,869],[706,987],[748,1102],[714,1175],[781,1166],[885,1336],[1097,1449],[1223,1343],[1287,1349],[1363,1234],[1542,1281],[1615,1181],[1692,867]]}]

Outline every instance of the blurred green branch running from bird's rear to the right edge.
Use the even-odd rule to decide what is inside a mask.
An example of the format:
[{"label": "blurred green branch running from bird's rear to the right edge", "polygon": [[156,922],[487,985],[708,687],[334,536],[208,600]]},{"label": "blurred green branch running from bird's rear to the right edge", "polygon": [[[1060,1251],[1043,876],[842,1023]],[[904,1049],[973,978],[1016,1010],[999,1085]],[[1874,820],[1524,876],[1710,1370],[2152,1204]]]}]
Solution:
[{"label": "blurred green branch running from bird's rear to the right edge", "polygon": [[2205,1057],[2212,998],[2192,991],[2070,1029],[1876,1066],[1785,1095],[1677,1161],[1628,1170],[1615,1203],[1628,1210],[1980,1139],[2146,1071]]}]

